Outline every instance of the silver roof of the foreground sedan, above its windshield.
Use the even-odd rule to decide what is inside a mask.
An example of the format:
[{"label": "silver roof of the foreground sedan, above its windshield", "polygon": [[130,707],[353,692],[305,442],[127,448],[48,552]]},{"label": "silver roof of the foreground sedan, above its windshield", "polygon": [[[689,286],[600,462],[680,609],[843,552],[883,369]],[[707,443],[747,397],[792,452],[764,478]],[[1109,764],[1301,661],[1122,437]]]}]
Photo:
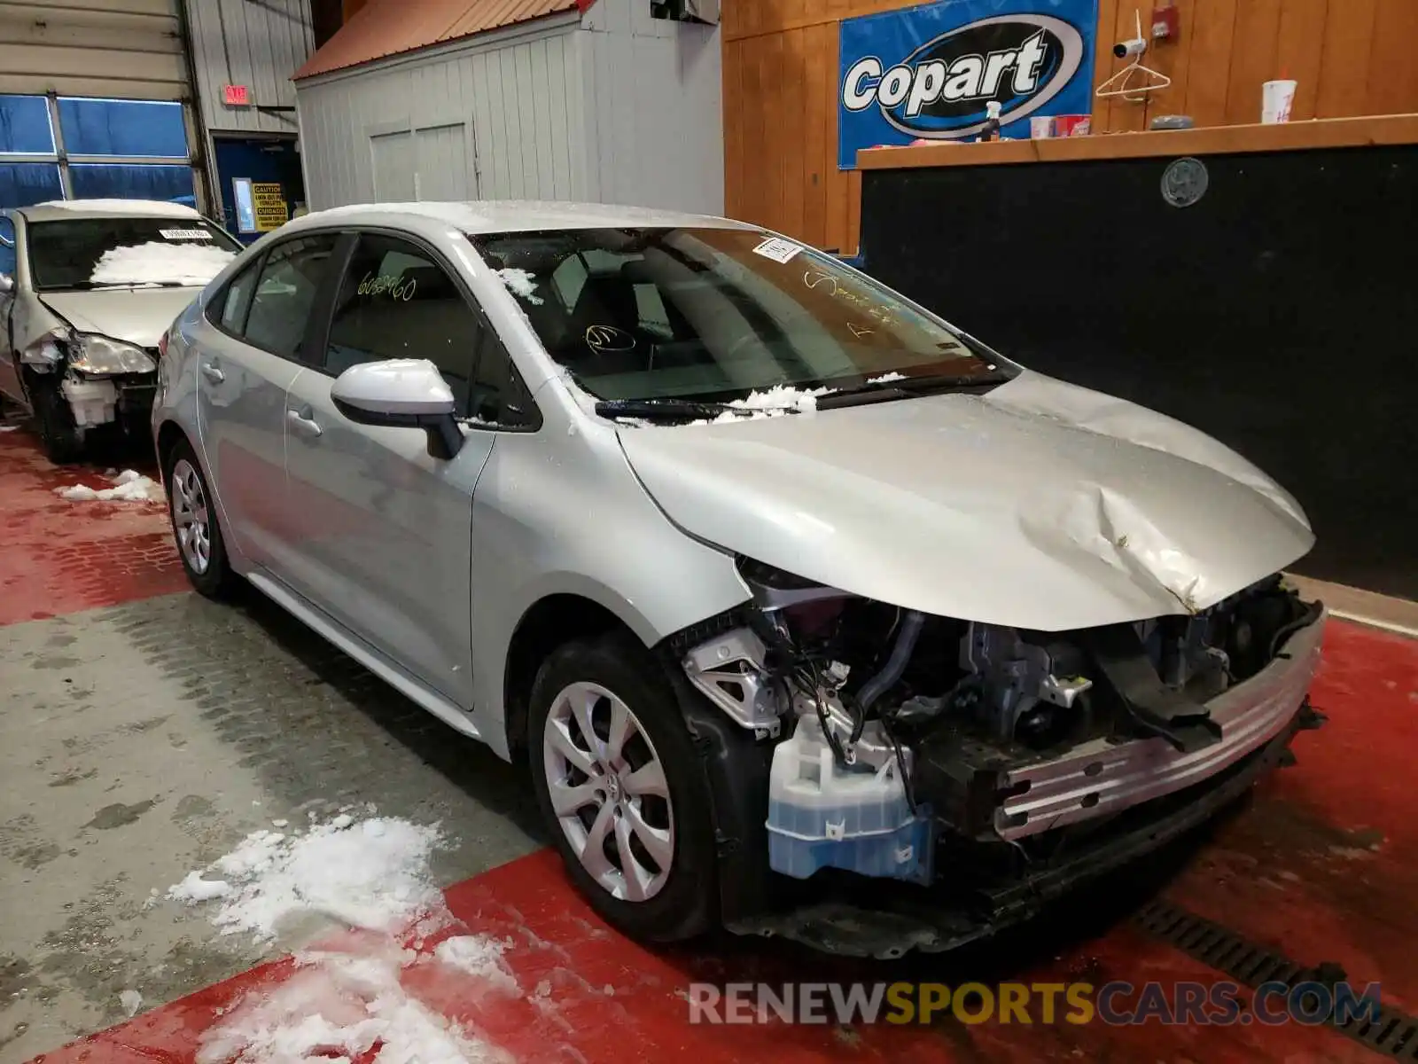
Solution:
[{"label": "silver roof of the foreground sedan, above its windshield", "polygon": [[710,214],[688,214],[657,207],[552,200],[472,200],[467,203],[356,203],[305,214],[284,231],[347,224],[394,224],[420,218],[452,226],[462,233],[518,233],[557,228],[712,227],[752,228],[747,223]]}]

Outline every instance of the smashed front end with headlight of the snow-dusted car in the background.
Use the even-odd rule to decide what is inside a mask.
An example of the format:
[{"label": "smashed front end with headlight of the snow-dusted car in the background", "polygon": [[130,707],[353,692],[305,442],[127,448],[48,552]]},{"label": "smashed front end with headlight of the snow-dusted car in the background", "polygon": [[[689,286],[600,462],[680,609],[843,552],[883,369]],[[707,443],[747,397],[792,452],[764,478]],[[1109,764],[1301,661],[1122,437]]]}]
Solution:
[{"label": "smashed front end with headlight of the snow-dusted car in the background", "polygon": [[108,424],[125,431],[146,428],[157,356],[157,349],[58,325],[26,346],[20,363],[33,375],[31,390],[50,389],[62,397],[71,421],[65,428],[81,440]]}]

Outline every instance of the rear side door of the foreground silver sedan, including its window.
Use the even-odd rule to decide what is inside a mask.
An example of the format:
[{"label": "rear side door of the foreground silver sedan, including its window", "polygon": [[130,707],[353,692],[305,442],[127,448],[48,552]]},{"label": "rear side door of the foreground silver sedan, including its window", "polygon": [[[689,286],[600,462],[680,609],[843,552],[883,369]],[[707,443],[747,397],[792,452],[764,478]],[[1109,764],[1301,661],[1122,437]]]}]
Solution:
[{"label": "rear side door of the foreground silver sedan, including its window", "polygon": [[305,370],[311,309],[336,268],[337,233],[272,244],[218,294],[199,342],[197,417],[225,531],[275,567],[292,536],[285,502],[285,394]]}]

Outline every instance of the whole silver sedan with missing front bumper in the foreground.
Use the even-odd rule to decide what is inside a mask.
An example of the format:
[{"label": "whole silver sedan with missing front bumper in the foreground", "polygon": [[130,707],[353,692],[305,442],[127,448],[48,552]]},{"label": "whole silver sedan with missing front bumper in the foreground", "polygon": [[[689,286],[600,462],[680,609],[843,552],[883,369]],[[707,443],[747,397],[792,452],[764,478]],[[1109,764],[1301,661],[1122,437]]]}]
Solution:
[{"label": "whole silver sedan with missing front bumper in the foreground", "polygon": [[1289,494],[754,226],[320,211],[163,350],[191,583],[525,758],[640,938],[947,948],[1317,722]]}]

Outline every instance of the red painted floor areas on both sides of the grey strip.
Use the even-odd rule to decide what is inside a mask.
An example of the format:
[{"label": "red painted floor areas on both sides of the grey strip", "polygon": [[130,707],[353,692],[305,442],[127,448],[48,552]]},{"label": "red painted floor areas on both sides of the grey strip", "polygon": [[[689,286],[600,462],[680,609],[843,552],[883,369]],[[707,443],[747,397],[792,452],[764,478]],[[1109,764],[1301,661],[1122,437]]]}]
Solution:
[{"label": "red painted floor areas on both sides of the grey strip", "polygon": [[[74,482],[101,484],[92,470],[55,472],[23,433],[0,434],[0,623],[184,587],[160,506],[74,504],[52,494]],[[1409,813],[1409,779],[1418,763],[1418,643],[1332,623],[1314,702],[1330,724],[1297,739],[1297,767],[1259,787],[1252,806],[1218,831],[1167,892],[1297,960],[1334,960],[1353,980],[1381,980],[1385,1000],[1414,1012],[1418,916],[1411,899],[1418,894],[1418,826]],[[1025,1027],[946,1020],[926,1029],[691,1027],[685,989],[693,980],[959,983],[970,973],[947,959],[917,959],[892,969],[767,943],[645,951],[603,926],[546,851],[458,884],[447,901],[464,929],[516,943],[508,959],[522,993],[488,993],[423,960],[404,970],[404,986],[518,1061],[632,1064],[685,1051],[699,1064],[1373,1057],[1332,1031],[1297,1026]],[[1156,979],[1170,985],[1218,977],[1127,926],[1075,939],[1042,960],[1024,951],[987,956],[986,963],[991,980],[1031,983]],[[281,985],[292,969],[289,960],[254,969],[37,1061],[194,1061],[201,1033],[221,1010],[247,993]]]}]

